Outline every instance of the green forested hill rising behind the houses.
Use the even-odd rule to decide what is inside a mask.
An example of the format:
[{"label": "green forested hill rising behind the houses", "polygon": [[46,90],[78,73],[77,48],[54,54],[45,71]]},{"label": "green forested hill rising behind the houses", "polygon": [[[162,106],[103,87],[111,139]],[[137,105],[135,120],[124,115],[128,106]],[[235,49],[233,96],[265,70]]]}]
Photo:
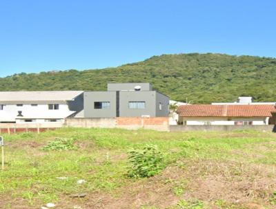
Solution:
[{"label": "green forested hill rising behind the houses", "polygon": [[151,82],[172,100],[193,103],[276,101],[276,59],[222,54],[150,57],[117,68],[20,73],[0,78],[1,91],[106,90],[107,82]]}]

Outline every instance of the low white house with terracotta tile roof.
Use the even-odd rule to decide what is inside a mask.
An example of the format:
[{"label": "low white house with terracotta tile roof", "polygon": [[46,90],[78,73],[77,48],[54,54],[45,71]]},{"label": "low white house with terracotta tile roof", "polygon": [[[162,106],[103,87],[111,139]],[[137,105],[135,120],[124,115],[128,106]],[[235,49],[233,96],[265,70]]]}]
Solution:
[{"label": "low white house with terracotta tile roof", "polygon": [[177,109],[183,125],[268,125],[275,124],[273,104],[190,104]]}]

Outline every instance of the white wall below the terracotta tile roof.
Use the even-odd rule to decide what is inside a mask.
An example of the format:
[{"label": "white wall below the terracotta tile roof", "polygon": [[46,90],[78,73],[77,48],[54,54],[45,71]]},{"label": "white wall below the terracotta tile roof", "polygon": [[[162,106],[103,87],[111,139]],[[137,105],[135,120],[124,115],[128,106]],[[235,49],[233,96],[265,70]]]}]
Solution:
[{"label": "white wall below the terracotta tile roof", "polygon": [[183,125],[235,125],[235,122],[241,122],[240,125],[268,125],[268,117],[255,118],[228,118],[228,117],[179,117]]}]

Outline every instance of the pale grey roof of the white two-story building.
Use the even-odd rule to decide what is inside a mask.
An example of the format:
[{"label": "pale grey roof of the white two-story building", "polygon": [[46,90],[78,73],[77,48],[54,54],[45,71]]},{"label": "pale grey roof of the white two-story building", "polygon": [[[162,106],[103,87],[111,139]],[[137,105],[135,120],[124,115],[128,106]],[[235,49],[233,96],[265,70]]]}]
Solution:
[{"label": "pale grey roof of the white two-story building", "polygon": [[0,102],[69,101],[83,91],[0,91]]}]

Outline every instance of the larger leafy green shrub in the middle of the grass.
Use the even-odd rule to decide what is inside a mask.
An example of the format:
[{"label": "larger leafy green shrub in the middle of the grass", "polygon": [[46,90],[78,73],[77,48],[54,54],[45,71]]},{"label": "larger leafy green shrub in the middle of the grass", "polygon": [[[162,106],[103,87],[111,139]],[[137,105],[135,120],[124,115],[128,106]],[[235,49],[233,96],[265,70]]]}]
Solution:
[{"label": "larger leafy green shrub in the middle of the grass", "polygon": [[154,176],[164,169],[164,156],[155,145],[146,145],[141,149],[132,149],[128,152],[128,167],[130,178],[145,178]]}]

